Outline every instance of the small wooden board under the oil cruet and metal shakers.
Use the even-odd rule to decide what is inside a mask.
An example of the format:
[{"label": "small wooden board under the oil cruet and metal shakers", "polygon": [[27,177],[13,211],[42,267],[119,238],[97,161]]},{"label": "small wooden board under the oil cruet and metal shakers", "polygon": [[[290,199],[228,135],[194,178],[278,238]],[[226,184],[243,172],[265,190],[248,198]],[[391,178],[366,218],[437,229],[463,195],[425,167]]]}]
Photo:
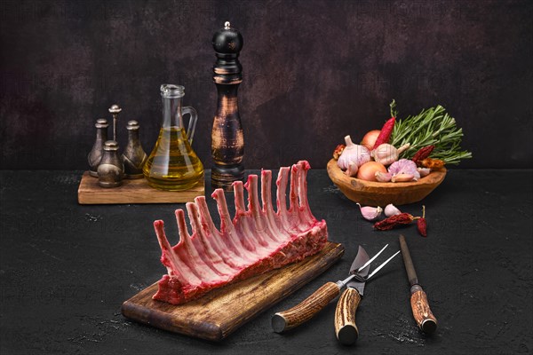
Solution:
[{"label": "small wooden board under the oil cruet and metal shakers", "polygon": [[145,178],[124,179],[123,185],[104,188],[98,185],[98,177],[84,172],[78,187],[78,203],[82,205],[121,203],[183,203],[203,196],[205,186],[198,185],[186,191],[162,191],[150,187]]}]

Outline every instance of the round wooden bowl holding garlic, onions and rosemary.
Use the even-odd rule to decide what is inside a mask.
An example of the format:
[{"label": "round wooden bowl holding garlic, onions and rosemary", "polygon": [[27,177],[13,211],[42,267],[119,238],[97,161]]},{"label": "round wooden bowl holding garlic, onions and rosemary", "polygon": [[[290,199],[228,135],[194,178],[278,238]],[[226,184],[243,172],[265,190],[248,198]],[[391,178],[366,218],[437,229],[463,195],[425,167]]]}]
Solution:
[{"label": "round wooden bowl holding garlic, onions and rosemary", "polygon": [[428,176],[409,183],[379,183],[348,177],[338,168],[337,161],[331,159],[328,162],[328,175],[348,199],[362,205],[385,208],[389,203],[399,206],[422,200],[442,183],[446,169],[432,171]]}]

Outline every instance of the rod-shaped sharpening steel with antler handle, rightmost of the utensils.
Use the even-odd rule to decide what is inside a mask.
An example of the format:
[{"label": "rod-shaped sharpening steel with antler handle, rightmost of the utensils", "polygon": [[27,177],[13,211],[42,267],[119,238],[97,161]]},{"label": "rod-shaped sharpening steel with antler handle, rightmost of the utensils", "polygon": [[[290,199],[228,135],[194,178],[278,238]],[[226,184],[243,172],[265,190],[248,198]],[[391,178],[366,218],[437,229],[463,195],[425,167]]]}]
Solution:
[{"label": "rod-shaped sharpening steel with antler handle, rightmost of the utensils", "polygon": [[403,264],[405,264],[405,271],[410,283],[410,304],[413,312],[413,317],[417,321],[418,327],[426,334],[434,333],[437,329],[437,319],[429,308],[427,295],[422,286],[418,283],[417,272],[415,265],[411,259],[409,248],[405,237],[400,234],[400,248],[402,250]]}]

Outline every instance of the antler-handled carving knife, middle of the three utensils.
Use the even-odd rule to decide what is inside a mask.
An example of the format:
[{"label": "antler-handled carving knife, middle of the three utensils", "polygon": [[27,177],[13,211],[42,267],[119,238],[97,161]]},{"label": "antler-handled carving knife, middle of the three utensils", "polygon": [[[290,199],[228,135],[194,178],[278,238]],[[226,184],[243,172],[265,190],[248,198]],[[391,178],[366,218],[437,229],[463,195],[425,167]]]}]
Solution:
[{"label": "antler-handled carving knife, middle of the three utensils", "polygon": [[[383,251],[383,249],[381,249]],[[366,250],[359,247],[354,263],[350,267],[349,274],[357,273],[362,277],[369,274],[370,264],[367,264],[362,270],[361,267],[369,260]],[[340,343],[345,345],[353,344],[359,336],[359,330],[355,325],[355,312],[361,302],[361,296],[364,293],[366,281],[349,280],[346,283],[346,290],[338,299],[337,308],[335,309],[335,334]]]}]

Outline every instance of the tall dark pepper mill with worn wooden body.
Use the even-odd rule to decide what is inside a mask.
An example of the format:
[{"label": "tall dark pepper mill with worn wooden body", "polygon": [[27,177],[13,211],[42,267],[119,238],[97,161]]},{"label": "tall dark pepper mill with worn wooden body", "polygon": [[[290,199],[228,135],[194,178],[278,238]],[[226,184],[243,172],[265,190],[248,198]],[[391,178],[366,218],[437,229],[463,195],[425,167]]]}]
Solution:
[{"label": "tall dark pepper mill with worn wooden body", "polygon": [[213,36],[212,44],[217,56],[213,82],[217,85],[219,99],[211,132],[211,156],[215,162],[211,185],[231,191],[232,183],[244,178],[243,126],[237,105],[237,90],[243,82],[243,67],[238,59],[243,49],[243,36],[226,22]]}]

